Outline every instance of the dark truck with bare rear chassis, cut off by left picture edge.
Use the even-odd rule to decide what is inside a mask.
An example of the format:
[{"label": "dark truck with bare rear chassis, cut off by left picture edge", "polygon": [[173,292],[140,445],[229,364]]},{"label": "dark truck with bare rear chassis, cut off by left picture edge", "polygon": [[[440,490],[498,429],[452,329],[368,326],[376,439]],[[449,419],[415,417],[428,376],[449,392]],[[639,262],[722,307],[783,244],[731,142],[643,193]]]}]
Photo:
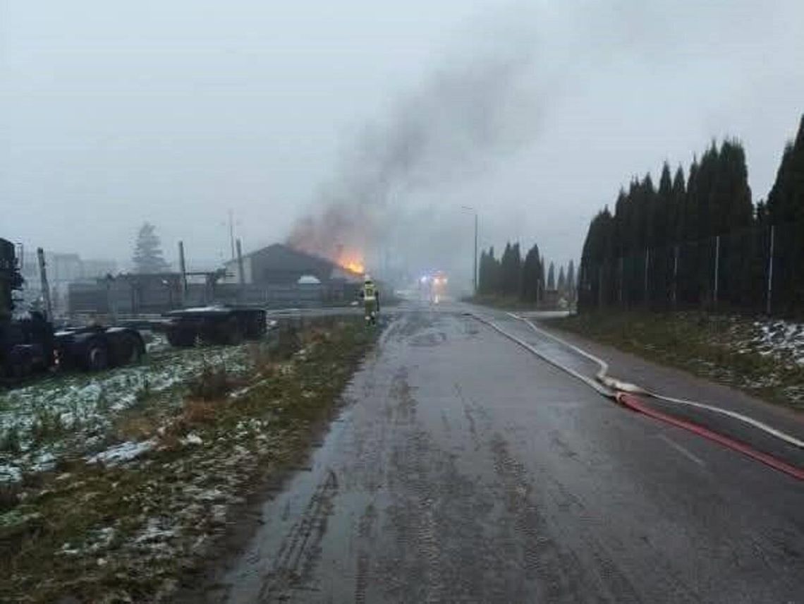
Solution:
[{"label": "dark truck with bare rear chassis, cut off by left picture edge", "polygon": [[14,244],[0,239],[0,378],[18,380],[51,368],[98,371],[135,363],[145,353],[128,327],[67,327],[56,331],[42,312],[15,317],[13,292],[23,278]]}]

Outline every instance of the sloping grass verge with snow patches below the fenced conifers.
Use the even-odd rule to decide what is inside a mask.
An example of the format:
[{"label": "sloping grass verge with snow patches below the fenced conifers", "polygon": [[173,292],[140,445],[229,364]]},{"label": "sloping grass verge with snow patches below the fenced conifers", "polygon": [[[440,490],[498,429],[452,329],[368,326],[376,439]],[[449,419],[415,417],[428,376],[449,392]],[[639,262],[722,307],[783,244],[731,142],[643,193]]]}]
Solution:
[{"label": "sloping grass verge with snow patches below the fenced conifers", "polygon": [[769,325],[776,323],[704,312],[607,311],[548,324],[804,410],[804,363],[794,347],[769,344]]}]

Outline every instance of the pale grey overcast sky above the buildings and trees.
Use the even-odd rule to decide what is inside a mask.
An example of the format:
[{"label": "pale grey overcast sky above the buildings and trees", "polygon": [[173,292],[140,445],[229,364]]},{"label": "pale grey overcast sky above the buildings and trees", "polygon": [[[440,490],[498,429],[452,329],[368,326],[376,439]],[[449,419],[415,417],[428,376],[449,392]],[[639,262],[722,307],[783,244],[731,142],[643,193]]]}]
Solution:
[{"label": "pale grey overcast sky above the buildings and trees", "polygon": [[[230,208],[253,249],[384,179],[359,212],[391,253],[454,264],[468,205],[482,244],[567,261],[632,175],[712,138],[765,196],[802,31],[802,0],[0,0],[0,236],[125,263],[150,220],[214,260]],[[387,175],[400,145],[422,156]]]}]

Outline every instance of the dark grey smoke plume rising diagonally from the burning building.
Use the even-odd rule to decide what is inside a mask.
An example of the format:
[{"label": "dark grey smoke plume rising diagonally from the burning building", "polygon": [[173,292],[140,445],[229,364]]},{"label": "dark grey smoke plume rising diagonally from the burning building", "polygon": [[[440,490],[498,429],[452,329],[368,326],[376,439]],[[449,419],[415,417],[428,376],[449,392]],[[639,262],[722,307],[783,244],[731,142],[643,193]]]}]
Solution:
[{"label": "dark grey smoke plume rising diagonally from the burning building", "polygon": [[371,260],[380,246],[428,240],[433,195],[420,194],[470,178],[531,139],[531,55],[527,36],[508,35],[433,72],[363,129],[288,243],[335,260],[355,251]]}]

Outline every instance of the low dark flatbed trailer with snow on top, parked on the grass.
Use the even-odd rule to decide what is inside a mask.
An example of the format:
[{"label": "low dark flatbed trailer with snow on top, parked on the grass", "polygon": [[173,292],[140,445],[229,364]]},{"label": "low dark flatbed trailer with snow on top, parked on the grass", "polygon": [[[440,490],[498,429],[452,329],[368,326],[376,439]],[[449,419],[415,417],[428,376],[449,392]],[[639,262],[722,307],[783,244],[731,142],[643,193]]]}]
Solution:
[{"label": "low dark flatbed trailer with snow on top, parked on the grass", "polygon": [[161,329],[171,346],[237,344],[260,339],[268,328],[265,310],[248,306],[203,306],[173,310]]}]

